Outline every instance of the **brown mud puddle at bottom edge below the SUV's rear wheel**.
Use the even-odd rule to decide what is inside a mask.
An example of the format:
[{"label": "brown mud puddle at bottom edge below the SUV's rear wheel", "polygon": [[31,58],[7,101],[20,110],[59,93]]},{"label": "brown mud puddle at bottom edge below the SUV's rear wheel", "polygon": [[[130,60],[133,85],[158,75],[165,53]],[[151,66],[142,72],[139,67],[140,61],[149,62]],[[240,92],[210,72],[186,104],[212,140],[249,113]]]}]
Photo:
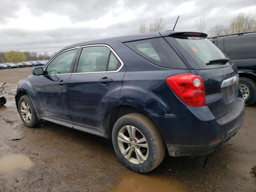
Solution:
[{"label": "brown mud puddle at bottom edge below the SUV's rear wheel", "polygon": [[[129,173],[121,177],[119,184],[109,192],[183,192],[180,182],[154,178],[146,174]],[[105,191],[105,192],[107,192]]]}]

